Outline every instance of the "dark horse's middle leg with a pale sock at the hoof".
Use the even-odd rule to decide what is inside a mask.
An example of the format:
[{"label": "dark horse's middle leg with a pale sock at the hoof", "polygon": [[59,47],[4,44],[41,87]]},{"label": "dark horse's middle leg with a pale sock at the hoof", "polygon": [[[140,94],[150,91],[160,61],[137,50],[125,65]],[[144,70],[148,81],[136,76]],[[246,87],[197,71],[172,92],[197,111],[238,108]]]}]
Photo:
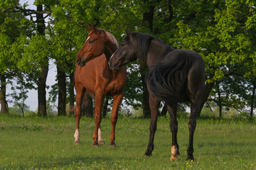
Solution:
[{"label": "dark horse's middle leg with a pale sock at the hoof", "polygon": [[171,159],[170,161],[176,161],[178,159],[178,142],[177,142],[177,133],[178,133],[178,121],[176,119],[177,115],[177,107],[176,106],[168,106],[167,107],[170,115],[170,129],[172,135],[172,145],[171,145]]}]

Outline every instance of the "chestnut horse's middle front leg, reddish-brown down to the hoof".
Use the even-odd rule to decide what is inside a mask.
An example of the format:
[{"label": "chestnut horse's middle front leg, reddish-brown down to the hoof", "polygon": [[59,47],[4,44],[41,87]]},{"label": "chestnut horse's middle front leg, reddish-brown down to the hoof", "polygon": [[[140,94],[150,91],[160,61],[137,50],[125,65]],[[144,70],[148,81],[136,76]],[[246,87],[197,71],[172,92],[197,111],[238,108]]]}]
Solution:
[{"label": "chestnut horse's middle front leg, reddish-brown down to the hoof", "polygon": [[92,135],[92,147],[99,147],[98,145],[98,131],[100,128],[100,122],[102,120],[102,106],[104,102],[104,95],[102,91],[96,91],[95,93],[95,132]]}]

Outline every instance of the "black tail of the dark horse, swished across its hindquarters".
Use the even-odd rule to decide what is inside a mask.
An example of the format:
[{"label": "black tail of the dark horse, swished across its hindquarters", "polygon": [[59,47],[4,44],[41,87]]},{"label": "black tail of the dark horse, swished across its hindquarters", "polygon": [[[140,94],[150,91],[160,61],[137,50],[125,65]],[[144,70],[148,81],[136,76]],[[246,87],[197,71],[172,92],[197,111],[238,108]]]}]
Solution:
[{"label": "black tail of the dark horse, swished across its hindquarters", "polygon": [[191,60],[188,55],[177,55],[155,64],[146,76],[149,90],[161,101],[178,103],[186,86]]}]

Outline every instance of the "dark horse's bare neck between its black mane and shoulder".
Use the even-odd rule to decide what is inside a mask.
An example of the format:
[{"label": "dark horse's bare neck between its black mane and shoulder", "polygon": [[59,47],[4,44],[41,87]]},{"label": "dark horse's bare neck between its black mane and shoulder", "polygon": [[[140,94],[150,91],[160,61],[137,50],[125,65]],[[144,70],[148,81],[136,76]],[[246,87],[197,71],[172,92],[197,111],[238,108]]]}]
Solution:
[{"label": "dark horse's bare neck between its black mane and shoulder", "polygon": [[165,44],[158,40],[152,40],[149,45],[149,50],[147,52],[146,65],[150,68],[153,64],[161,62],[164,60],[165,55],[162,53],[166,50]]}]

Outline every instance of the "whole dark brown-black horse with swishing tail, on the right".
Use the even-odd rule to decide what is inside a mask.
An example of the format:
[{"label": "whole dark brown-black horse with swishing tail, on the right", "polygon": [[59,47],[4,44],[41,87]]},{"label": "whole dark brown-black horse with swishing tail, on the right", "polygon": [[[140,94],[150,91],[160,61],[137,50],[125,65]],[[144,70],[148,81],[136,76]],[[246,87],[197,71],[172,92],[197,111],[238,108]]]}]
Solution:
[{"label": "whole dark brown-black horse with swishing tail, on the right", "polygon": [[178,103],[190,101],[187,159],[193,160],[193,133],[196,129],[196,117],[200,113],[200,102],[205,85],[205,66],[202,57],[192,50],[174,50],[152,35],[132,33],[127,30],[127,37],[110,58],[110,68],[117,69],[137,58],[149,67],[146,83],[149,90],[151,124],[146,156],[151,156],[154,149],[159,103],[164,101],[171,117],[171,160],[177,159]]}]

